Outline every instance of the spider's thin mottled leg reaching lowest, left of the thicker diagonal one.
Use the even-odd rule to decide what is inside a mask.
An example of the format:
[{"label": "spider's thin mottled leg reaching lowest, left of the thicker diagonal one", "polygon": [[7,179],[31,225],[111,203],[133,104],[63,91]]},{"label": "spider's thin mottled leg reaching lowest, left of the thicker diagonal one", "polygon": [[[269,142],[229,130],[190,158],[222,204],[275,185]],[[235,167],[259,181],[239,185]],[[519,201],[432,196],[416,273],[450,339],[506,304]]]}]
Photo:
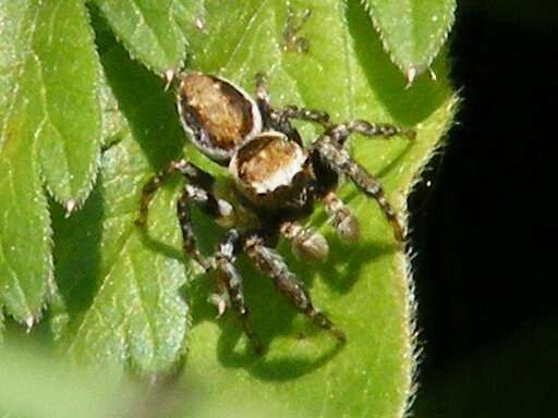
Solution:
[{"label": "spider's thin mottled leg reaching lowest, left of the thicker diagonal one", "polygon": [[215,255],[215,262],[217,269],[223,273],[223,283],[229,294],[230,304],[239,316],[244,332],[254,345],[256,353],[260,353],[262,344],[256,339],[248,321],[250,312],[244,300],[242,276],[234,267],[235,254],[242,247],[244,237],[238,230],[230,230],[219,244],[219,249]]}]

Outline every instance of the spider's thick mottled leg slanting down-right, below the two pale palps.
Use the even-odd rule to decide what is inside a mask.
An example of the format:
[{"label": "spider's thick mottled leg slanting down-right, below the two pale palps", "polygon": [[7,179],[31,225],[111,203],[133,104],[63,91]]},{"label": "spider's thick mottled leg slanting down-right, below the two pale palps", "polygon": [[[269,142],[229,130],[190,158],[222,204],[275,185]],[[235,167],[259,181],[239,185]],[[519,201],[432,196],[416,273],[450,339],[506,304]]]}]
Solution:
[{"label": "spider's thick mottled leg slanting down-right, below the two pale palps", "polygon": [[244,253],[260,271],[271,278],[275,286],[289,298],[299,311],[322,329],[329,331],[340,342],[345,341],[343,332],[336,328],[326,315],[314,307],[303,284],[289,270],[282,257],[272,248],[265,246],[262,235],[256,233],[248,236],[244,243]]}]

